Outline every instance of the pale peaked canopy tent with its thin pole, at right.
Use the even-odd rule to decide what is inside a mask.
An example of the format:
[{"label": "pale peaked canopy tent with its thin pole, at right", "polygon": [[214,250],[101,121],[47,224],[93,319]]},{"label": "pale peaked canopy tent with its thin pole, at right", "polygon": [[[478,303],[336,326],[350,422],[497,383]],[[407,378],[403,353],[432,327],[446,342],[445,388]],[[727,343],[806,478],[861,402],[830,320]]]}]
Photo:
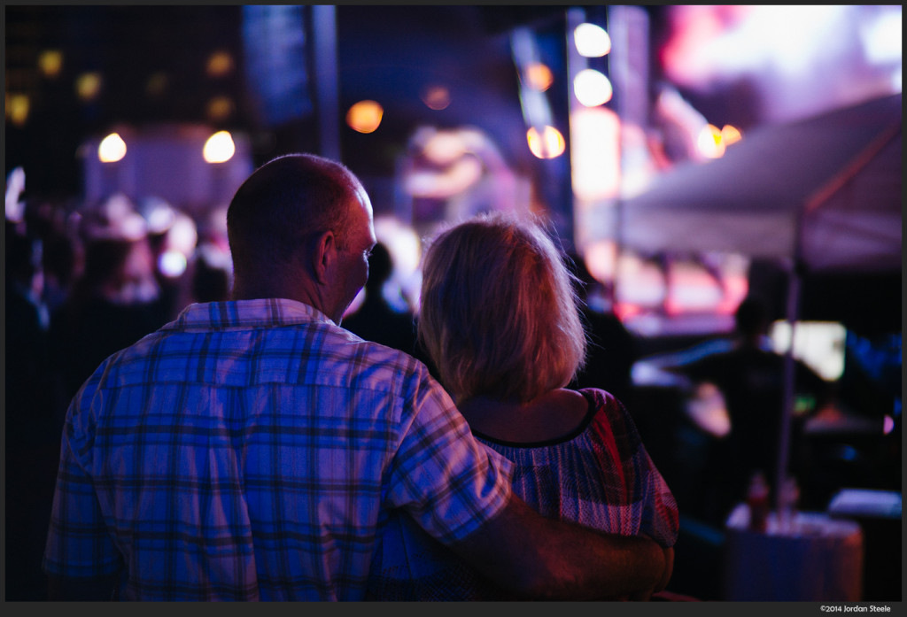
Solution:
[{"label": "pale peaked canopy tent with its thin pole, at right", "polygon": [[[802,275],[900,272],[901,117],[898,93],[753,130],[723,158],[678,165],[625,199],[619,243],[645,252],[777,259],[788,272],[793,328]],[[775,486],[787,467],[792,352],[786,366]]]}]

